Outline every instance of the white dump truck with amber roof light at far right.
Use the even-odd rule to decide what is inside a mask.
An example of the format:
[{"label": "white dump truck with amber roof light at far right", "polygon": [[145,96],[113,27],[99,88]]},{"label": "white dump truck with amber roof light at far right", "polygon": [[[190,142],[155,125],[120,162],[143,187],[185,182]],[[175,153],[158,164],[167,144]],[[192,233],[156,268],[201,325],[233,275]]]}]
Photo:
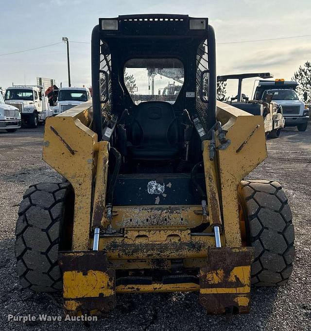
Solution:
[{"label": "white dump truck with amber roof light at far right", "polygon": [[[282,106],[285,126],[297,126],[298,131],[306,131],[309,120],[309,108],[299,99],[295,89],[297,82],[276,79],[275,81],[259,81],[255,89],[254,99],[265,100],[272,94],[272,100]],[[304,93],[304,101],[307,100]]]}]

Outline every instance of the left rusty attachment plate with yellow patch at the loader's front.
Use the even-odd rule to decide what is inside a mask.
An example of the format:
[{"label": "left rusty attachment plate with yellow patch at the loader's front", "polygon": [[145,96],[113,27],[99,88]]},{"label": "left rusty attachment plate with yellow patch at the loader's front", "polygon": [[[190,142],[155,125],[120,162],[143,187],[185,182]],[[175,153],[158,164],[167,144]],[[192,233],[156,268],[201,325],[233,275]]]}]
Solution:
[{"label": "left rusty attachment plate with yellow patch at the loader's front", "polygon": [[58,257],[67,312],[109,312],[116,306],[116,275],[108,269],[106,252],[60,252]]}]

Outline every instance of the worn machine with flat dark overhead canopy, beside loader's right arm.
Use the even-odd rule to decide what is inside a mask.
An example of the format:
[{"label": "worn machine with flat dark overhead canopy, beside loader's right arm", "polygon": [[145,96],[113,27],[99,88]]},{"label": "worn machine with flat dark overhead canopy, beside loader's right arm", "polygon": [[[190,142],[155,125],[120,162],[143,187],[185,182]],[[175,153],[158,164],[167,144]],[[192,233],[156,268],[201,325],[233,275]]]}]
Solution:
[{"label": "worn machine with flat dark overhead canopy, beside loader's right arm", "polygon": [[[265,100],[249,100],[242,94],[242,80],[245,78],[271,78],[273,77],[269,72],[259,73],[242,73],[234,75],[218,76],[218,82],[226,82],[228,79],[238,79],[238,94],[231,101],[227,102],[237,108],[240,108],[252,115],[261,115],[264,119],[264,131],[266,137],[277,138],[280,135],[281,129],[285,126],[282,107],[276,102],[272,102],[272,96],[268,96]],[[234,101],[237,100],[237,101]]]}]

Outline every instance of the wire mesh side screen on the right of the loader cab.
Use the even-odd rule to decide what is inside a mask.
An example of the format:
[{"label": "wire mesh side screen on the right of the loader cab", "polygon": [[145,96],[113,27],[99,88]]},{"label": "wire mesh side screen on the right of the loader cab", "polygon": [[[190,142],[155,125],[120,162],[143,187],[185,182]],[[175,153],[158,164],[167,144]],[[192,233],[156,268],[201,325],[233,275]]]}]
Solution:
[{"label": "wire mesh side screen on the right of the loader cab", "polygon": [[209,78],[209,74],[208,74],[207,39],[206,39],[200,44],[196,54],[196,87],[195,87],[195,112],[199,117],[199,119],[201,120],[205,129],[207,129],[208,78]]}]

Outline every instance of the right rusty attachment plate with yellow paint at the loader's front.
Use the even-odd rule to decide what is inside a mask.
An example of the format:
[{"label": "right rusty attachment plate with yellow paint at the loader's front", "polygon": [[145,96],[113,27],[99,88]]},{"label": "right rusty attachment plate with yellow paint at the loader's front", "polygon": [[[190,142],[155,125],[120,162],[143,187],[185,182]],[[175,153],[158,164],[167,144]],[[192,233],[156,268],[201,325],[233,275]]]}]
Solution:
[{"label": "right rusty attachment plate with yellow paint at the loader's front", "polygon": [[253,247],[209,247],[200,269],[199,303],[208,314],[248,313]]}]

